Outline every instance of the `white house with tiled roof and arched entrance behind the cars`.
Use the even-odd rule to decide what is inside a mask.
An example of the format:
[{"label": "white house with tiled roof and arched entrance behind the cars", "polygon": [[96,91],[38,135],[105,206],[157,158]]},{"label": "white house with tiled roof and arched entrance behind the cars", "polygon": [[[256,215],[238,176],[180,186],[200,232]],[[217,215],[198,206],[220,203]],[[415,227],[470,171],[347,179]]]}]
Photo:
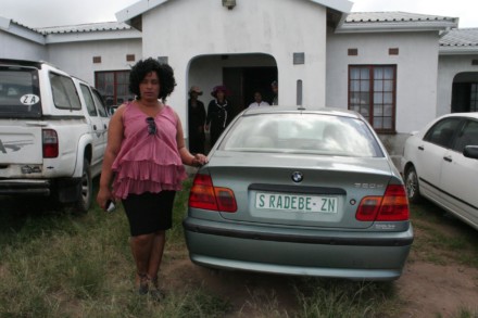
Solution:
[{"label": "white house with tiled roof and arched entrance behind the cars", "polygon": [[[239,112],[279,82],[279,104],[362,113],[392,155],[438,115],[477,111],[478,29],[458,18],[350,13],[347,0],[141,0],[117,22],[32,29],[0,18],[0,58],[48,60],[93,82],[110,104],[133,98],[131,64],[175,69],[168,103],[187,120],[188,88],[231,91]],[[474,93],[477,92],[477,93]],[[187,127],[187,125],[184,125]],[[187,136],[187,131],[186,131]]]}]

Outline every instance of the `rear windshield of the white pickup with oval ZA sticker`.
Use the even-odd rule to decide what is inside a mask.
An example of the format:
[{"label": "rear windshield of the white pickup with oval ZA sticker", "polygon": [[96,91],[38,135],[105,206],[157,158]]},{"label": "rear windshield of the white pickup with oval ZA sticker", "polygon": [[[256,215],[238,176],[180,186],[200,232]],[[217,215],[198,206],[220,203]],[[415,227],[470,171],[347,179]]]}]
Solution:
[{"label": "rear windshield of the white pickup with oval ZA sticker", "polygon": [[38,72],[33,67],[0,67],[0,118],[39,118]]}]

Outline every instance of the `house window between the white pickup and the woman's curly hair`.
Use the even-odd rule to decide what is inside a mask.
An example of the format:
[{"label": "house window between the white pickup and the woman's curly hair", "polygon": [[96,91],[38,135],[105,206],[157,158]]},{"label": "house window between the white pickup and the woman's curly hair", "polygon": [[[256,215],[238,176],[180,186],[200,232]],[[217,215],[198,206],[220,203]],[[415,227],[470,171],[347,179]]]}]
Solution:
[{"label": "house window between the white pickup and the woman's curly hair", "polygon": [[96,72],[95,87],[103,96],[106,106],[117,106],[133,100],[129,92],[129,71]]}]

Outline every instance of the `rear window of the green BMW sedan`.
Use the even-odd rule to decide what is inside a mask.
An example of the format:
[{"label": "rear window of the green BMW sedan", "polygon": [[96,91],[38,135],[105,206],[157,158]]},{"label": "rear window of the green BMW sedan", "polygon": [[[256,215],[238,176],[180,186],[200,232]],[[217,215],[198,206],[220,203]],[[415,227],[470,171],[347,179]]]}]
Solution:
[{"label": "rear window of the green BMW sedan", "polygon": [[235,123],[222,150],[383,156],[369,127],[360,119],[323,114],[255,114]]}]

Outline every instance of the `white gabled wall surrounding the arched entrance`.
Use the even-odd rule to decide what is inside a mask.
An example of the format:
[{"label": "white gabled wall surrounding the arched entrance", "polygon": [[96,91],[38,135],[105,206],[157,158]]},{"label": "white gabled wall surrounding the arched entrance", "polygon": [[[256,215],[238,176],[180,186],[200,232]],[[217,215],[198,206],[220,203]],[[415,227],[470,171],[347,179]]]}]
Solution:
[{"label": "white gabled wall surrounding the arched entrance", "polygon": [[[280,103],[295,104],[298,79],[303,80],[303,104],[318,107],[325,103],[326,9],[322,5],[297,0],[240,0],[227,10],[222,1],[169,1],[143,15],[142,29],[144,58],[168,56],[175,69],[178,86],[169,99],[173,105],[185,104],[191,60],[251,52],[276,61]],[[305,54],[304,65],[292,64],[293,52]],[[218,82],[217,74],[211,74],[221,67],[212,65],[204,76]],[[177,111],[185,122],[186,107]]]}]

